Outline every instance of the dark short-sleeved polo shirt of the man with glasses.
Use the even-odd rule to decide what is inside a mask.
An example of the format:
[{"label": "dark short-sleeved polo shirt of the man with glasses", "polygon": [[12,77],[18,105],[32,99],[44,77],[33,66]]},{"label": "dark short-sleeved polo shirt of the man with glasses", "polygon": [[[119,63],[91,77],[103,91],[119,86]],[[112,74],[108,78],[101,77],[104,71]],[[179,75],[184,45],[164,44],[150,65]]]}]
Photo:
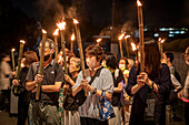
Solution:
[{"label": "dark short-sleeved polo shirt of the man with glasses", "polygon": [[[34,62],[30,65],[26,80],[34,81],[34,76],[38,74],[39,62]],[[63,70],[61,65],[54,63],[52,60],[50,64],[48,64],[42,70],[42,82],[41,85],[54,85],[56,82],[63,82]],[[36,93],[33,93],[32,100],[34,100]],[[49,104],[58,104],[58,92],[46,93],[41,92],[40,101]]]}]

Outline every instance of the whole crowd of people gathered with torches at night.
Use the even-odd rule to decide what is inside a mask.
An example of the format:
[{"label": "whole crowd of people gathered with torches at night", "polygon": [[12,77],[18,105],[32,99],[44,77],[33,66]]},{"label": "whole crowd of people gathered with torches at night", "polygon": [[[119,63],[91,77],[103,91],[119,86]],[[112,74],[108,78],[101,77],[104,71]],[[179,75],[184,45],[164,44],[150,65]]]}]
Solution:
[{"label": "whole crowd of people gathered with torches at night", "polygon": [[[39,44],[41,56],[42,42]],[[172,65],[173,54],[165,53],[163,61],[158,42],[145,39],[145,71],[138,60],[118,58],[92,44],[84,50],[87,69],[81,71],[81,60],[64,49],[54,59],[54,43],[47,39],[42,74],[33,51],[23,53],[19,80],[13,79],[10,56],[2,54],[0,67],[0,107],[9,111],[10,90],[18,101],[18,125],[166,125],[166,105],[176,117],[177,96],[185,102],[185,123],[189,124],[189,70],[185,84]],[[189,65],[189,46],[183,53]],[[162,61],[162,62],[161,62]],[[68,74],[66,73],[68,70]],[[84,72],[84,73],[83,73]],[[86,74],[86,76],[83,76]],[[10,82],[11,81],[11,82]],[[40,86],[39,100],[36,100]],[[63,103],[60,103],[62,91]],[[102,93],[105,93],[102,95]],[[170,100],[170,95],[175,100]],[[172,95],[172,96],[173,96]],[[115,115],[101,119],[100,98],[111,103]],[[61,104],[61,105],[60,105]],[[62,111],[59,111],[62,107]],[[62,112],[62,115],[60,115]],[[103,112],[108,112],[103,110]]]}]

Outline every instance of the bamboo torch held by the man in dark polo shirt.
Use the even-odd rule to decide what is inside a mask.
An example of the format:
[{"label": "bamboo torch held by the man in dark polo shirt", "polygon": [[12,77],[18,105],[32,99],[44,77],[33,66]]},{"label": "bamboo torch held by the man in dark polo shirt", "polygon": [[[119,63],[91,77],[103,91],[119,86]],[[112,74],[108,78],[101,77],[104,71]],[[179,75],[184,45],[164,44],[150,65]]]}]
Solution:
[{"label": "bamboo torch held by the man in dark polo shirt", "polygon": [[[44,30],[42,30],[42,48],[41,48],[41,53],[40,53],[40,62],[39,62],[39,71],[38,71],[38,74],[40,74],[40,75],[42,75],[42,64],[43,64],[43,59],[44,59],[46,38],[47,38],[47,32]],[[37,93],[36,93],[37,101],[39,101],[40,88],[41,88],[41,82],[38,83],[38,87],[37,87]]]}]

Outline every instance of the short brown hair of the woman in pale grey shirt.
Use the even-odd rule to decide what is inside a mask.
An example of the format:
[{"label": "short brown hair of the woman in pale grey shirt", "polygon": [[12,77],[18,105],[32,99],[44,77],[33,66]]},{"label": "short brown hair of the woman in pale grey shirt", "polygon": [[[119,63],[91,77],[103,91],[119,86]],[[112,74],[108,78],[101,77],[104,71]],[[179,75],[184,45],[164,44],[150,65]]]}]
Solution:
[{"label": "short brown hair of the woman in pale grey shirt", "polygon": [[94,55],[97,58],[97,61],[100,60],[100,63],[102,62],[102,60],[105,59],[105,53],[103,50],[101,49],[101,46],[97,45],[97,44],[91,44],[89,45],[86,51],[86,54],[90,54],[90,55]]}]

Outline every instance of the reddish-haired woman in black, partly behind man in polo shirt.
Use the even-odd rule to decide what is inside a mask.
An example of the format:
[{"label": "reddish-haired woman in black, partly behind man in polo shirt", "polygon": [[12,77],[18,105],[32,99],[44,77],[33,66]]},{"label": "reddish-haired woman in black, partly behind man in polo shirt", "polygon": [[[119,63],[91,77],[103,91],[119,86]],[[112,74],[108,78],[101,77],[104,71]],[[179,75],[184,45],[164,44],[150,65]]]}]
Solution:
[{"label": "reddish-haired woman in black, partly behind man in polo shirt", "polygon": [[38,62],[38,56],[33,51],[27,51],[23,53],[22,63],[19,80],[13,80],[13,86],[18,87],[17,95],[19,96],[18,103],[18,122],[17,125],[24,125],[28,117],[28,107],[30,102],[30,92],[26,90],[26,76],[31,63]]}]

